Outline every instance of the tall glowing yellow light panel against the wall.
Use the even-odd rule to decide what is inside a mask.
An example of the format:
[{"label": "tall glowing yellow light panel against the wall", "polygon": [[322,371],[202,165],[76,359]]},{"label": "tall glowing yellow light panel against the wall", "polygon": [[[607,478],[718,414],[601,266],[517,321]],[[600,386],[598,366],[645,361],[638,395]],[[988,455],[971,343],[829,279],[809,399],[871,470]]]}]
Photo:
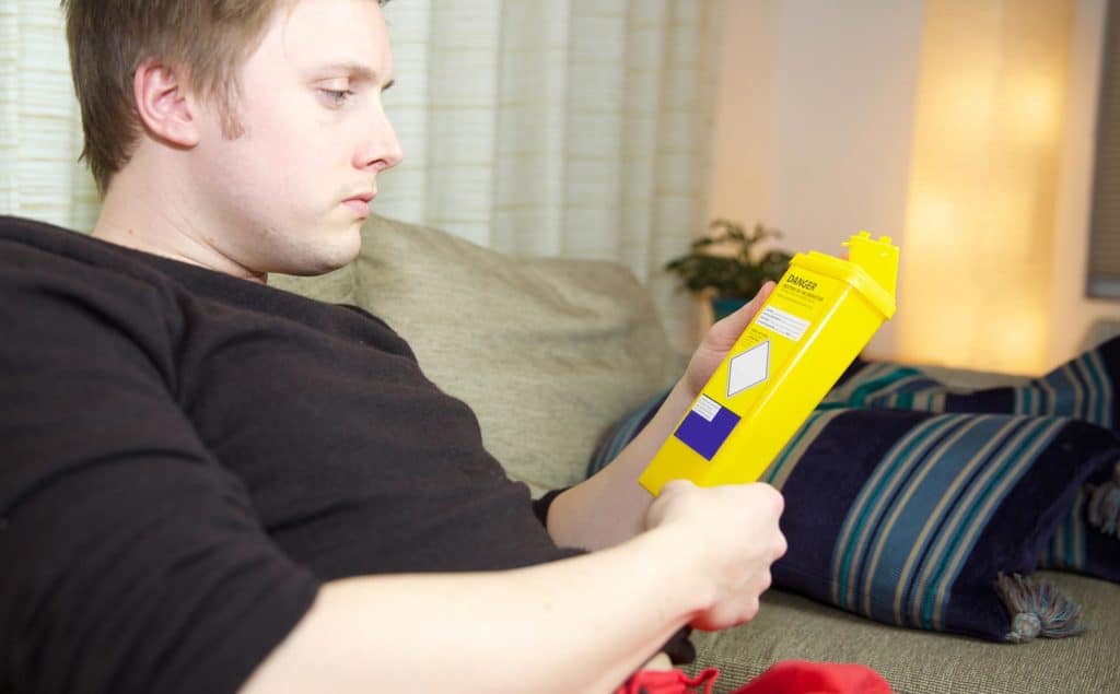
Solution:
[{"label": "tall glowing yellow light panel against the wall", "polygon": [[1045,369],[1072,7],[927,3],[900,244],[902,359]]}]

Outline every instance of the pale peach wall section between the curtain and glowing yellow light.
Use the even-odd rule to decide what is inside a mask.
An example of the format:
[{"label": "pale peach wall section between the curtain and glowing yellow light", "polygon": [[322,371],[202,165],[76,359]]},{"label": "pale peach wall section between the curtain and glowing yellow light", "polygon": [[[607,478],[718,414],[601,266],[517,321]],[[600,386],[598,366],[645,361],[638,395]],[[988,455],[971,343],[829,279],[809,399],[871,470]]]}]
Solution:
[{"label": "pale peach wall section between the curtain and glowing yellow light", "polygon": [[[781,228],[793,251],[900,236],[921,0],[727,0],[711,216]],[[890,356],[894,326],[868,353]]]}]

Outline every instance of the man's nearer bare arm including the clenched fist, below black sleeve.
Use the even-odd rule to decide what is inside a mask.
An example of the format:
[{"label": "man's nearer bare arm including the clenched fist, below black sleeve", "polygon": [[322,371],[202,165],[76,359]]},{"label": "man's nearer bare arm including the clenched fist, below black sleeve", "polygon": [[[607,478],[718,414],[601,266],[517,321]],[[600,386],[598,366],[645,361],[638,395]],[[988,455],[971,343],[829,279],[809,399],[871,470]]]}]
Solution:
[{"label": "man's nearer bare arm including the clenched fist, below black sleeve", "polygon": [[754,616],[784,552],[781,508],[765,485],[672,482],[653,529],[603,552],[328,583],[243,692],[609,691],[684,623]]}]

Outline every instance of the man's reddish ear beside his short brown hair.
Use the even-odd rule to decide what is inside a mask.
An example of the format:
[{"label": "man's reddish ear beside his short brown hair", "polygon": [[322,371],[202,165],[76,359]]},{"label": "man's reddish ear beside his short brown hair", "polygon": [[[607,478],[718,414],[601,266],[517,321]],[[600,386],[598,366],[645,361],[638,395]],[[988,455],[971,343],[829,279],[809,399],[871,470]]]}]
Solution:
[{"label": "man's reddish ear beside his short brown hair", "polygon": [[144,128],[183,148],[198,144],[198,101],[181,68],[144,60],[132,75],[132,94]]}]

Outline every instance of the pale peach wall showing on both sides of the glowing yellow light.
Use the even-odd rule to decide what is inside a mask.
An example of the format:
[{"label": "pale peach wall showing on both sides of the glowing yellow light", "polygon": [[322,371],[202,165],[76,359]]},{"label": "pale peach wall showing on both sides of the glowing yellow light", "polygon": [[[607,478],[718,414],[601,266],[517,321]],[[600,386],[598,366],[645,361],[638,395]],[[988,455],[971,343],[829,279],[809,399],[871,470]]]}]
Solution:
[{"label": "pale peach wall showing on both sides of the glowing yellow light", "polygon": [[[1048,344],[1038,367],[1032,366],[1036,372],[1076,354],[1094,319],[1120,318],[1120,303],[1084,297],[1107,2],[1074,3],[1055,228],[1046,245],[1053,248],[1053,266],[1051,278],[1042,280],[1049,289],[1040,292],[1048,297],[1042,299]],[[711,216],[777,226],[786,233],[783,245],[795,251],[838,251],[839,240],[858,228],[902,237],[926,3],[725,4]],[[921,266],[909,260],[909,268]],[[902,293],[902,310],[905,302]],[[880,331],[868,349],[871,356],[899,357],[900,322]],[[973,356],[982,355],[968,358]]]}]

